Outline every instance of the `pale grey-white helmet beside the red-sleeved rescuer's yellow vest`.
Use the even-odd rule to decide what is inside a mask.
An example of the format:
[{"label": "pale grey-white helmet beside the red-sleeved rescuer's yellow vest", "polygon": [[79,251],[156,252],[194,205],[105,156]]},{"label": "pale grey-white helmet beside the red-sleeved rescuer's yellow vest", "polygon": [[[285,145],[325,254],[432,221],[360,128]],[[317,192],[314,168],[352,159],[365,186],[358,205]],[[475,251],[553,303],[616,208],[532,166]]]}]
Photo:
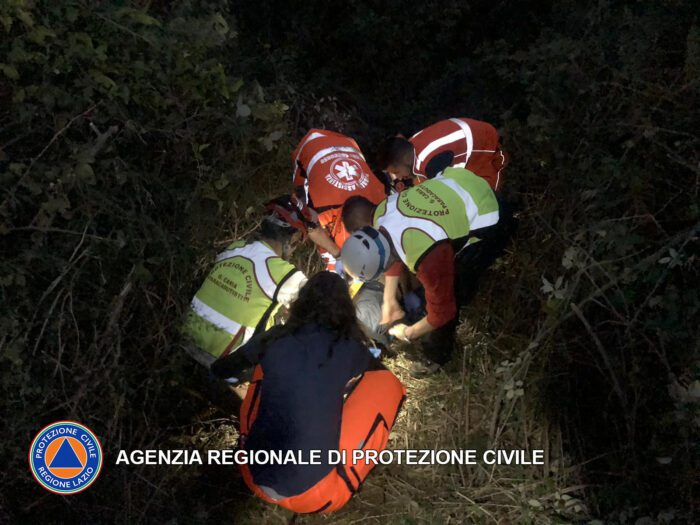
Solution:
[{"label": "pale grey-white helmet beside the red-sleeved rescuer's yellow vest", "polygon": [[389,266],[391,245],[371,226],[355,231],[343,243],[340,258],[345,271],[360,281],[374,281]]}]

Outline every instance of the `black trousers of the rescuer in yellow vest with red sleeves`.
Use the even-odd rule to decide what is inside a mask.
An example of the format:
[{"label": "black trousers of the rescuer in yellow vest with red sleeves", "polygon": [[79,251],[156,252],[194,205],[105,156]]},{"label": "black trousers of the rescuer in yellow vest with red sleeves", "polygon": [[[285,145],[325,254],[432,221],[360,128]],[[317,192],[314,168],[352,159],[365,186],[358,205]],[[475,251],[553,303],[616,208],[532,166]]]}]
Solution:
[{"label": "black trousers of the rescuer in yellow vest with red sleeves", "polygon": [[[499,199],[499,220],[493,226],[473,231],[469,238],[480,239],[479,242],[466,246],[463,239],[455,248],[455,298],[457,308],[466,306],[476,295],[479,280],[489,266],[505,251],[508,240],[515,231],[515,220],[510,206]],[[459,313],[458,313],[459,316]],[[440,365],[452,357],[455,344],[455,330],[459,318],[426,334],[420,341],[423,354]]]}]

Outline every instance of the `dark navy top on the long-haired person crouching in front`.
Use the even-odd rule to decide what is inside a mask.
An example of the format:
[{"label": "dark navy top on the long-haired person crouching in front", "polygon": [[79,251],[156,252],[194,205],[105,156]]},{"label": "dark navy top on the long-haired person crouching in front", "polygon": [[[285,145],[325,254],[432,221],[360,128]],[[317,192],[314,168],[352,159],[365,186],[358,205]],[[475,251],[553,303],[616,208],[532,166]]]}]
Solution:
[{"label": "dark navy top on the long-haired person crouching in front", "polygon": [[328,451],[338,448],[345,386],[367,370],[371,355],[357,341],[310,324],[273,341],[259,360],[264,382],[257,418],[245,441],[248,450],[294,450],[319,465],[251,465],[255,483],[277,494],[300,494],[333,468]]}]

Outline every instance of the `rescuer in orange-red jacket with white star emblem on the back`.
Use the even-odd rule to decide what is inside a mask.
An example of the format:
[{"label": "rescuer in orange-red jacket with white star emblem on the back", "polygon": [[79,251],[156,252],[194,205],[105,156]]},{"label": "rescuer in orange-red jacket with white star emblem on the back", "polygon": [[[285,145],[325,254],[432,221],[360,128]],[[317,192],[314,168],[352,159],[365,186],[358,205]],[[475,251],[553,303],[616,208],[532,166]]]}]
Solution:
[{"label": "rescuer in orange-red jacket with white star emblem on the back", "polygon": [[345,201],[361,195],[378,204],[384,199],[384,184],[372,173],[354,139],[325,129],[313,128],[292,154],[297,195],[318,214],[321,228],[309,232],[330,271],[348,237],[340,220]]}]

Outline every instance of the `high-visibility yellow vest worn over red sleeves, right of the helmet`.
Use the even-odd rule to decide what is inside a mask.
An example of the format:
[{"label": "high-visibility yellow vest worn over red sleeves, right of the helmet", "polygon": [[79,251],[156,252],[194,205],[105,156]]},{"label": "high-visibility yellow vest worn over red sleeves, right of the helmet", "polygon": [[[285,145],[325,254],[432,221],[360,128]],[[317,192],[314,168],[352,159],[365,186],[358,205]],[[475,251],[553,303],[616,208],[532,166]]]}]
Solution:
[{"label": "high-visibility yellow vest worn over red sleeves, right of the helmet", "polygon": [[466,238],[498,222],[498,201],[488,183],[469,170],[447,168],[420,186],[377,206],[374,227],[384,228],[412,272],[436,243]]}]

